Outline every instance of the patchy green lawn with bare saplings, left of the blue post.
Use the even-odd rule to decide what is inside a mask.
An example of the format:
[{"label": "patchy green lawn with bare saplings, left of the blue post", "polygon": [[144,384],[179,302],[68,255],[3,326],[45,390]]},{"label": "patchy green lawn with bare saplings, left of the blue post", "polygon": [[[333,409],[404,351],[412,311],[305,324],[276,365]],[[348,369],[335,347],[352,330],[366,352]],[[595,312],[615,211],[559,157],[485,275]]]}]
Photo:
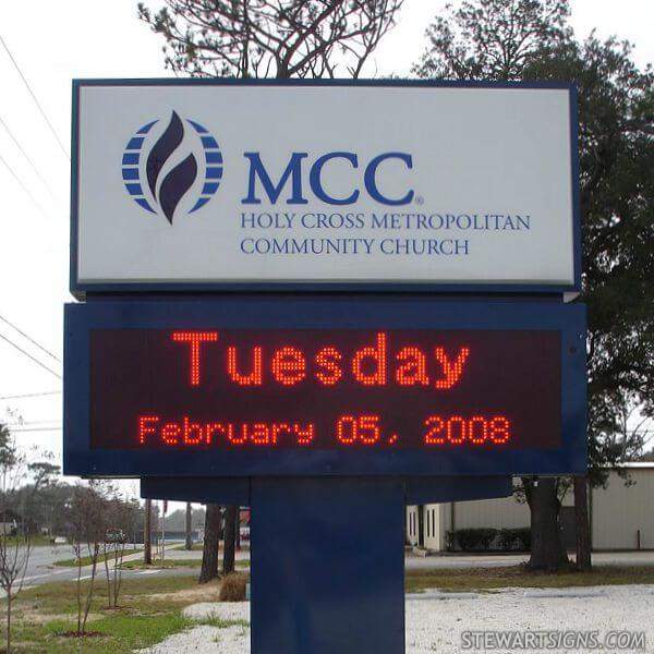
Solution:
[{"label": "patchy green lawn with bare saplings, left of the blue post", "polygon": [[[107,607],[104,576],[96,580],[87,631],[74,638],[76,630],[75,582],[58,582],[28,589],[14,604],[13,639],[16,653],[36,654],[126,654],[147,647],[166,637],[194,625],[220,629],[247,627],[244,620],[208,618],[191,621],[182,608],[195,602],[215,602],[219,584],[197,585],[195,578],[169,577],[123,580],[118,609]],[[83,593],[88,582],[82,582]],[[190,594],[192,593],[192,594]]]}]

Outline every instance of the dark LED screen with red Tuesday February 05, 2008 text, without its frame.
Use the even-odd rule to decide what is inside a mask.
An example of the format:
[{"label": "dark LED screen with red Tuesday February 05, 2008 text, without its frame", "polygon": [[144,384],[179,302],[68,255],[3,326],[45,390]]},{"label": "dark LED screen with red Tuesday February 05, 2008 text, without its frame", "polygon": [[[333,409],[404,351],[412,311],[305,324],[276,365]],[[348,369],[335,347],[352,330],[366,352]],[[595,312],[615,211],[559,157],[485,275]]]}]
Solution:
[{"label": "dark LED screen with red Tuesday February 05, 2008 text, without its frame", "polygon": [[560,355],[555,331],[93,330],[90,447],[553,448]]}]

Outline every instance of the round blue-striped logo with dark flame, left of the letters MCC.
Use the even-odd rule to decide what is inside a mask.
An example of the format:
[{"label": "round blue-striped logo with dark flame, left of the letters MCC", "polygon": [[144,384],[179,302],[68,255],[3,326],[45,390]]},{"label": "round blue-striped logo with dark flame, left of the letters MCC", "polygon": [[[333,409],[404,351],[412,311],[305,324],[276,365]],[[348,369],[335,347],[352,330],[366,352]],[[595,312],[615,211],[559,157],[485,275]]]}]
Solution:
[{"label": "round blue-striped logo with dark flame, left of the letters MCC", "polygon": [[[136,204],[153,214],[162,214],[172,225],[175,209],[198,177],[203,185],[202,189],[196,185],[199,193],[189,213],[211,199],[222,179],[222,155],[208,130],[195,121],[182,120],[177,111],[153,143],[148,136],[159,122],[146,123],[128,142],[122,156],[122,179]],[[169,165],[170,161],[177,162]]]}]

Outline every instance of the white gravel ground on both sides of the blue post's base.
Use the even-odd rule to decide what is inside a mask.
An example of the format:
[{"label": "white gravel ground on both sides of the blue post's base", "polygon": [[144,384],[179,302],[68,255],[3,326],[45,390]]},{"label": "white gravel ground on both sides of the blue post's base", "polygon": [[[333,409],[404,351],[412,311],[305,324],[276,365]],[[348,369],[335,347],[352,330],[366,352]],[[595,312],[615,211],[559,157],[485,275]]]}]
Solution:
[{"label": "white gravel ground on both sides of the blue post's base", "polygon": [[[250,605],[194,604],[185,609],[194,619],[207,616],[249,620]],[[497,593],[425,593],[407,596],[407,654],[455,654],[463,650],[464,630],[611,630],[644,631],[646,652],[654,653],[654,585],[586,589],[507,589]],[[488,650],[492,651],[492,650]],[[508,652],[506,647],[495,650]],[[533,650],[521,650],[532,652]],[[540,650],[544,652],[545,650]],[[586,654],[589,650],[571,650]],[[608,650],[610,652],[611,650]],[[633,650],[623,650],[633,652]],[[247,654],[250,630],[194,627],[142,654]],[[594,650],[593,652],[597,652]]]}]

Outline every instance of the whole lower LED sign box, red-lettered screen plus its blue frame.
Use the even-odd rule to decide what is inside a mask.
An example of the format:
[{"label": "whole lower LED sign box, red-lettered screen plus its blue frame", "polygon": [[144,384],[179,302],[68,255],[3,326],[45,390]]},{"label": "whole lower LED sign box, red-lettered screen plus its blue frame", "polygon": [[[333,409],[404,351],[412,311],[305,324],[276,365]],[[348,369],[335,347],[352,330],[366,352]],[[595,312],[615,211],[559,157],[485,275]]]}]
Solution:
[{"label": "whole lower LED sign box, red-lettered screen plus its blue frame", "polygon": [[65,472],[579,472],[584,328],[549,303],[70,305]]}]

